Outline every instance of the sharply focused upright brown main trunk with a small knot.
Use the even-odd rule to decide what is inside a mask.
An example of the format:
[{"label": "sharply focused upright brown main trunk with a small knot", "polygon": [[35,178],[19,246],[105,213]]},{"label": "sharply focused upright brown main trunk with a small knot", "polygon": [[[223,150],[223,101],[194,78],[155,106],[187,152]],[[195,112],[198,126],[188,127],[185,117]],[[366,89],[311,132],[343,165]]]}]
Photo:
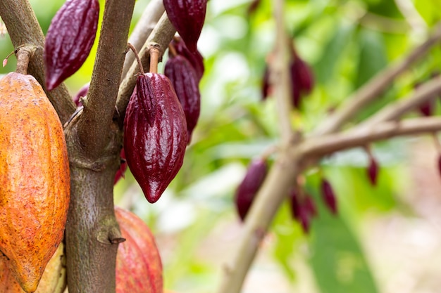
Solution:
[{"label": "sharply focused upright brown main trunk with a small knot", "polygon": [[84,108],[67,124],[71,197],[66,223],[70,293],[114,293],[118,223],[113,179],[122,134],[114,124],[116,97],[135,0],[107,0],[97,58]]}]

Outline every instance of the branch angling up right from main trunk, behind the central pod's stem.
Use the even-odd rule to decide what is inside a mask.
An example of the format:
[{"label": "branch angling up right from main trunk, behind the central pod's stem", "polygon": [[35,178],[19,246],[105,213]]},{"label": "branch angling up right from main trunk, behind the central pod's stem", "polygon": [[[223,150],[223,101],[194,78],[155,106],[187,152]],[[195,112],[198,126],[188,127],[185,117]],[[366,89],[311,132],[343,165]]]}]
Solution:
[{"label": "branch angling up right from main trunk, behind the central pod's stem", "polygon": [[[160,56],[163,56],[163,53],[168,48],[168,44],[170,44],[170,41],[173,39],[175,32],[175,27],[173,27],[170,20],[168,20],[167,14],[163,13],[158,24],[149,35],[149,39],[147,39],[144,46],[142,46],[141,50],[139,50],[139,57],[141,58],[142,66],[144,68],[150,67],[149,48],[151,46],[156,46],[156,48],[159,48],[159,51],[161,52]],[[118,91],[118,100],[116,100],[116,109],[120,114],[120,125],[123,125],[125,108],[127,108],[130,96],[132,96],[133,89],[135,88],[136,74],[138,72],[139,67],[136,61],[134,61],[130,67],[130,70],[128,70],[128,73],[121,82],[120,89]]]}]

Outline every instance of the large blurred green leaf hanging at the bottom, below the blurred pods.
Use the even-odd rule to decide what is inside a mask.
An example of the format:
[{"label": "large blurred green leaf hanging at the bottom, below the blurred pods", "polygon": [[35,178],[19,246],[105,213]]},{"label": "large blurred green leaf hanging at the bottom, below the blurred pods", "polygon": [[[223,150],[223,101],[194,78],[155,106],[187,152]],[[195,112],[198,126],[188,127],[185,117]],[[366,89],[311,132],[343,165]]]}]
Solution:
[{"label": "large blurred green leaf hanging at the bottom, below the blurred pods", "polygon": [[[315,192],[315,197],[319,195]],[[319,216],[311,235],[311,268],[322,293],[377,293],[356,235],[341,216],[331,216],[317,200]]]}]

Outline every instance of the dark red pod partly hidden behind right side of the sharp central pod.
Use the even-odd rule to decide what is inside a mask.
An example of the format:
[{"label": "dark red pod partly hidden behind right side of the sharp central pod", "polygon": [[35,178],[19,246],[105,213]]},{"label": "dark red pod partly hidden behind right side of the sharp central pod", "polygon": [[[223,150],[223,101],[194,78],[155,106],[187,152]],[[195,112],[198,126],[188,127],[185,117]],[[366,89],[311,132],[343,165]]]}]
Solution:
[{"label": "dark red pod partly hidden behind right side of the sharp central pod", "polygon": [[187,59],[178,55],[167,60],[164,74],[173,84],[176,96],[178,96],[184,110],[187,120],[188,143],[190,143],[193,129],[201,112],[201,94],[199,93],[196,72]]}]

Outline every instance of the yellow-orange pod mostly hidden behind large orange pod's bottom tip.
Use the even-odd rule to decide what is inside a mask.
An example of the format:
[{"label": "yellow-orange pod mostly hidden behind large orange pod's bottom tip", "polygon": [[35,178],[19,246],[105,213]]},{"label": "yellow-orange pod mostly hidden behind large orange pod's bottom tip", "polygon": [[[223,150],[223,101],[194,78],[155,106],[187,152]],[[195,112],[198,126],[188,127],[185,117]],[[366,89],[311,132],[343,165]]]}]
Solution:
[{"label": "yellow-orange pod mostly hidden behind large orange pod's bottom tip", "polygon": [[[66,256],[64,256],[63,249],[63,242],[61,242],[54,256],[44,268],[42,279],[35,293],[63,293],[66,289]],[[0,293],[24,293],[9,271],[6,261],[2,259],[0,259]]]}]

